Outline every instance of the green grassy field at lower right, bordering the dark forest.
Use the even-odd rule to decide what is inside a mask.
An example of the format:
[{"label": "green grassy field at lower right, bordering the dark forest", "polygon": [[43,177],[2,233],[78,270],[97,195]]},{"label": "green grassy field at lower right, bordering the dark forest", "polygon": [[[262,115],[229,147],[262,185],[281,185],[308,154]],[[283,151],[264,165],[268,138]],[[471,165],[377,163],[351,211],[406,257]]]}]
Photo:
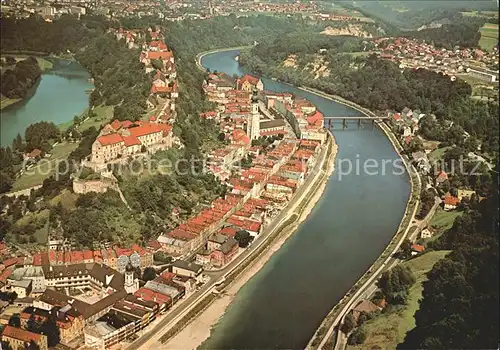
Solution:
[{"label": "green grassy field at lower right, bordering the dark forest", "polygon": [[364,325],[367,334],[364,344],[347,346],[347,349],[371,349],[375,346],[380,349],[396,349],[396,345],[404,339],[406,333],[415,327],[414,315],[419,308],[422,283],[427,280],[427,272],[448,253],[449,251],[433,251],[402,263],[412,270],[416,278],[415,284],[410,288],[408,304],[397,311],[383,313],[368,321]]}]

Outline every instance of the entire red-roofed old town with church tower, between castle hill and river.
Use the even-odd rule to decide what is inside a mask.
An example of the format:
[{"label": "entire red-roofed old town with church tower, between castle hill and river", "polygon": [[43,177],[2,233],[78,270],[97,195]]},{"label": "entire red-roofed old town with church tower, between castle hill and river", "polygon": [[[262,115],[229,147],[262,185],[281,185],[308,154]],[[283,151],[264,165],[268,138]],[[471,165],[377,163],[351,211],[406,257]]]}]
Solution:
[{"label": "entire red-roofed old town with church tower, between castle hill and river", "polygon": [[[197,263],[219,268],[238,254],[235,237],[239,231],[258,236],[285,207],[314,165],[323,139],[298,140],[293,132],[290,134],[287,120],[267,106],[268,100],[293,101],[292,96],[264,92],[257,77],[232,78],[212,73],[203,83],[203,89],[218,106],[214,111],[202,113],[200,118],[214,120],[225,141],[224,147],[207,154],[208,170],[229,191],[224,198],[217,198],[150,245],[180,257],[196,252]],[[302,104],[307,111],[304,133],[320,132],[322,116],[313,105],[297,102],[297,106]],[[269,146],[258,145],[257,140],[268,136],[273,136],[268,138]]]}]

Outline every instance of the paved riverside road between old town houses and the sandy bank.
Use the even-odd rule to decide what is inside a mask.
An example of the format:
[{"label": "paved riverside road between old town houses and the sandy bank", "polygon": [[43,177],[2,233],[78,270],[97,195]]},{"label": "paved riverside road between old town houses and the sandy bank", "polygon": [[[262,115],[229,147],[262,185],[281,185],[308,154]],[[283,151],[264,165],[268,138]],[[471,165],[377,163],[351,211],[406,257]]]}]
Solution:
[{"label": "paved riverside road between old town houses and the sandy bank", "polygon": [[[291,201],[288,203],[287,208],[281,211],[280,214],[274,218],[274,220],[269,224],[267,228],[263,230],[263,232],[255,239],[248,249],[246,249],[242,254],[240,254],[235,260],[229,263],[225,268],[215,271],[215,272],[207,272],[206,275],[210,277],[209,282],[207,282],[204,286],[202,286],[198,291],[194,292],[190,296],[186,297],[185,300],[182,301],[182,304],[178,305],[175,309],[171,310],[154,328],[147,331],[143,336],[141,336],[138,340],[130,344],[127,349],[138,349],[143,346],[146,342],[148,342],[153,336],[160,338],[165,332],[167,327],[172,321],[174,321],[177,317],[181,316],[184,313],[187,313],[191,308],[193,308],[201,299],[203,299],[208,293],[211,293],[215,284],[232,272],[236,267],[238,267],[242,262],[244,262],[247,258],[255,253],[257,248],[259,248],[262,244],[266,243],[267,238],[271,233],[273,233],[276,228],[278,228],[283,221],[288,219],[290,215],[290,210],[294,210],[297,204],[299,204],[304,195],[310,191],[311,185],[318,178],[315,176],[316,174],[323,172],[322,166],[324,163],[324,158],[326,156],[327,147],[324,147],[319,156],[318,161],[316,162],[313,170],[311,171],[310,176],[304,181],[304,184],[297,190],[294,194]],[[319,176],[320,176],[319,175]]]}]

